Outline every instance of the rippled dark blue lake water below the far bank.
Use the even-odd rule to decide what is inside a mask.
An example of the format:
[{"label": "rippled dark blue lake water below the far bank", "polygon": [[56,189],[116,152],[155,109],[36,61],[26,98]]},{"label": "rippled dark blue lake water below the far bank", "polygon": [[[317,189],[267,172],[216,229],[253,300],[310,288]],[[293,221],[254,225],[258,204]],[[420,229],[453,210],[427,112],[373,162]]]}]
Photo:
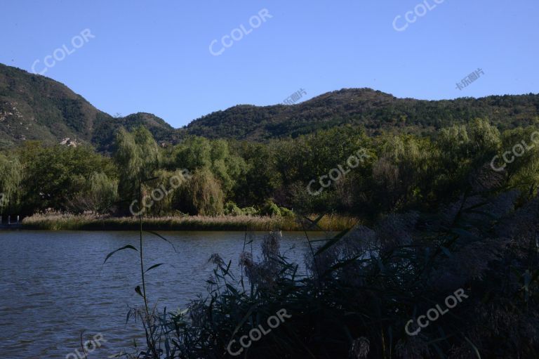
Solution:
[{"label": "rippled dark blue lake water below the far bank", "polygon": [[[166,263],[147,273],[151,303],[168,311],[185,308],[197,294],[206,293],[205,280],[213,266],[211,254],[232,259],[237,268],[244,244],[240,232],[161,232],[175,245],[145,235],[145,267]],[[255,233],[253,254],[260,252],[265,233]],[[310,233],[312,239],[323,233]],[[88,358],[107,358],[121,349],[131,351],[140,327],[126,325],[128,306],[142,298],[138,252],[127,249],[135,232],[46,232],[0,230],[0,353],[2,358],[65,358],[85,340],[102,334],[107,342]],[[289,249],[289,250],[288,250]],[[281,251],[302,262],[307,249],[302,233],[283,233]],[[69,356],[74,358],[74,356]]]}]

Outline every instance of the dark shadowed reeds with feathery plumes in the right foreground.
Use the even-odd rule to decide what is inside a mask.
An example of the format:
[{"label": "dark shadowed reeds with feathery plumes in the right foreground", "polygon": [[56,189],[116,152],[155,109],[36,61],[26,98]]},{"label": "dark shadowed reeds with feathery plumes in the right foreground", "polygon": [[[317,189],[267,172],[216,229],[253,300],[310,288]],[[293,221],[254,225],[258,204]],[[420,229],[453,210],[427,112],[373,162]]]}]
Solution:
[{"label": "dark shadowed reeds with feathery plumes in the right foreground", "polygon": [[[439,214],[390,214],[309,242],[306,277],[274,232],[260,260],[240,254],[239,278],[232,260],[212,256],[208,293],[146,318],[159,354],[135,356],[231,358],[231,340],[284,308],[291,318],[236,358],[538,358],[538,217],[539,199],[517,192],[465,196]],[[457,289],[463,303],[406,333]]]}]

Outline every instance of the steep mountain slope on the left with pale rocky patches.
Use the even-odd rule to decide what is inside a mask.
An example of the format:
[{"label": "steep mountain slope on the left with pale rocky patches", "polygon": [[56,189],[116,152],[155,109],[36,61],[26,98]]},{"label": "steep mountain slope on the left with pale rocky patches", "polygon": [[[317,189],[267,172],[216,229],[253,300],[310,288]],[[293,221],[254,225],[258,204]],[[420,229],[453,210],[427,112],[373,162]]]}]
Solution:
[{"label": "steep mountain slope on the left with pale rocky patches", "polygon": [[119,126],[132,129],[141,124],[158,141],[175,141],[178,131],[157,116],[137,113],[115,118],[58,81],[0,64],[0,147],[69,138],[106,151]]}]

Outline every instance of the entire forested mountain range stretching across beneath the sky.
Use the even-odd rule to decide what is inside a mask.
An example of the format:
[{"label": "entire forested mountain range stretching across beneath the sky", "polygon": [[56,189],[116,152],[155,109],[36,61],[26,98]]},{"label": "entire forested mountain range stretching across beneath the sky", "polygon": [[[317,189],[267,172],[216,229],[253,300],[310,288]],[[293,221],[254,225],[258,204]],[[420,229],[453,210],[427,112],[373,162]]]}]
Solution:
[{"label": "entire forested mountain range stretching across beneath the sky", "polygon": [[120,126],[143,125],[163,144],[177,143],[185,135],[250,141],[295,138],[344,124],[363,126],[368,134],[425,134],[477,117],[490,119],[500,129],[533,124],[539,119],[539,95],[430,101],[342,89],[296,105],[237,105],[173,129],[147,113],[112,117],[58,81],[0,64],[0,148],[24,140],[59,143],[70,138],[108,152]]}]

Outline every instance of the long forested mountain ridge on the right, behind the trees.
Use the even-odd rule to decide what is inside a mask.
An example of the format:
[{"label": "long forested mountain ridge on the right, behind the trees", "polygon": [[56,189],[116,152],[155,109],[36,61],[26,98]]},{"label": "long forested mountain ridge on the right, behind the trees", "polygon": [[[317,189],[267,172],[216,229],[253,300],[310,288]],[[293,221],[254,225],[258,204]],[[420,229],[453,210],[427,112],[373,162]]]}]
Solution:
[{"label": "long forested mountain ridge on the right, behind the trees", "polygon": [[500,129],[537,122],[539,95],[415,100],[372,89],[342,89],[297,105],[230,107],[191,122],[186,130],[208,138],[262,141],[343,124],[364,126],[368,133],[430,132],[477,117],[491,119]]}]

